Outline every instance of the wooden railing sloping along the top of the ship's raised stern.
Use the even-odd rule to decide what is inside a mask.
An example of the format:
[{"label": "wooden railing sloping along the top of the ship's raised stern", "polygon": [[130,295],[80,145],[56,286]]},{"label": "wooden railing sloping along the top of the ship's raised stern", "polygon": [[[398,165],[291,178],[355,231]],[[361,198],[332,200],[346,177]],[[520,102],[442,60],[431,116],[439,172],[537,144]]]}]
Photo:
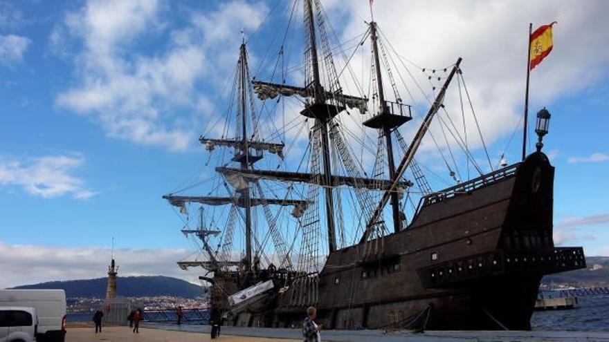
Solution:
[{"label": "wooden railing sloping along the top of the ship's raised stern", "polygon": [[498,180],[509,178],[516,174],[519,165],[520,163],[513,164],[509,167],[504,167],[503,169],[498,169],[497,171],[487,173],[486,175],[481,175],[478,178],[457,184],[442,191],[430,193],[428,196],[421,199],[423,201],[423,207],[448,200],[449,198],[453,198],[464,193],[471,193],[471,191],[474,191],[475,189],[480,189],[481,187],[486,187],[487,185],[497,182]]}]

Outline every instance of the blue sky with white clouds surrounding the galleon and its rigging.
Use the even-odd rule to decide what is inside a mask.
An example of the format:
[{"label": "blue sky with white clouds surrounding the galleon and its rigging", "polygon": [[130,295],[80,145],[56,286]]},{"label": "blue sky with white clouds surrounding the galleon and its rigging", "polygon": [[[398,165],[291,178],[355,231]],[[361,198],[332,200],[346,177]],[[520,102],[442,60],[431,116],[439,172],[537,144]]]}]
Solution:
[{"label": "blue sky with white clouds surrounding the galleon and its rigging", "polygon": [[[339,39],[365,30],[360,2],[324,2]],[[192,279],[174,264],[192,245],[161,196],[206,163],[197,137],[232,77],[239,31],[251,32],[257,65],[285,27],[275,5],[0,0],[0,256],[28,254],[40,265],[82,257],[73,272],[31,272],[19,282],[102,276],[111,237],[123,258],[141,259],[127,272]],[[470,5],[377,0],[375,17],[419,65],[464,57],[493,158],[522,113],[527,23],[558,21],[556,47],[531,75],[530,108],[552,112],[545,151],[556,166],[555,239],[609,255],[609,48],[599,44],[609,39],[608,4],[538,1],[526,15],[517,3]],[[517,134],[510,162],[519,146]],[[433,153],[424,160],[436,163]]]}]

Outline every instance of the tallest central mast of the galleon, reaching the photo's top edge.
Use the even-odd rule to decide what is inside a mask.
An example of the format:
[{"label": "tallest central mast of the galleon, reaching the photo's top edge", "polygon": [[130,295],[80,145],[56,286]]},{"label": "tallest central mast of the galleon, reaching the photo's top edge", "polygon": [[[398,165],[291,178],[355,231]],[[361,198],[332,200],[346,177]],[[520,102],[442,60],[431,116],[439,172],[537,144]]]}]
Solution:
[{"label": "tallest central mast of the galleon, reaching the photo's top edge", "polygon": [[[305,0],[305,11],[309,22],[309,37],[311,39],[311,67],[313,68],[313,91],[315,92],[315,104],[321,105],[325,103],[324,91],[321,86],[319,77],[319,62],[317,56],[317,43],[315,37],[315,22],[313,21],[313,3],[312,0]],[[323,160],[323,177],[322,183],[325,191],[325,202],[326,202],[326,220],[328,229],[328,249],[330,252],[336,250],[336,229],[334,227],[334,197],[332,195],[331,188],[331,164],[330,164],[330,150],[329,150],[329,139],[328,139],[328,126],[327,122],[331,117],[322,117],[316,115],[315,125],[319,127],[321,133],[321,149],[322,149],[322,160]]]}]

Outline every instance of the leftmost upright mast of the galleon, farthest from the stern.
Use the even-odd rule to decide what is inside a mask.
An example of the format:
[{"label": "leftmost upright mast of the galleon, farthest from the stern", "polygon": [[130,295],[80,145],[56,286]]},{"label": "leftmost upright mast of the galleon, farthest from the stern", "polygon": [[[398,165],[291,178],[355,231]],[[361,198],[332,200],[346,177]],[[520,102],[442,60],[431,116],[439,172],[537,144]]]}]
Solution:
[{"label": "leftmost upright mast of the galleon, farthest from the stern", "polygon": [[[248,138],[247,138],[247,70],[246,70],[246,60],[247,54],[245,50],[245,41],[241,44],[241,122],[242,122],[242,135],[243,142],[240,146],[242,152],[241,158],[241,169],[248,170],[250,167],[250,158],[249,158],[249,147],[248,147]],[[241,191],[241,196],[245,201],[245,253],[246,253],[246,269],[251,269],[252,267],[252,213],[251,213],[251,205],[250,205],[250,187],[249,182],[247,182],[247,187]]]}]

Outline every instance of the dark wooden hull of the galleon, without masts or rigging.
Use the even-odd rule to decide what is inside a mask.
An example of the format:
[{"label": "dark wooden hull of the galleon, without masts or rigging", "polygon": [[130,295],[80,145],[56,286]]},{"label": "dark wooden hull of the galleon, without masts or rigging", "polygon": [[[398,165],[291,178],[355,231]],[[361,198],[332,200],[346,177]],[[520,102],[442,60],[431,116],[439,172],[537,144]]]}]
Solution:
[{"label": "dark wooden hull of the galleon, without masts or rigging", "polygon": [[543,153],[428,196],[408,228],[331,253],[318,278],[296,278],[234,325],[529,330],[544,274],[585,267],[552,241],[554,167]]}]

